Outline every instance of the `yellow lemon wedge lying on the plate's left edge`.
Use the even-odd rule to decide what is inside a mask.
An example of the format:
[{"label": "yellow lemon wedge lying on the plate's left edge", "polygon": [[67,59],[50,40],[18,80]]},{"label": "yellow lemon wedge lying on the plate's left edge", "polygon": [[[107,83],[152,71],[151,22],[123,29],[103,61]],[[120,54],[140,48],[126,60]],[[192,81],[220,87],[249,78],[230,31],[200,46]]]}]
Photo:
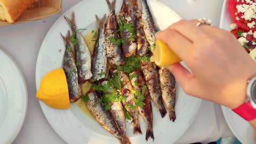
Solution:
[{"label": "yellow lemon wedge lying on the plate's left edge", "polygon": [[52,108],[69,108],[68,83],[62,68],[52,70],[43,77],[36,98]]}]

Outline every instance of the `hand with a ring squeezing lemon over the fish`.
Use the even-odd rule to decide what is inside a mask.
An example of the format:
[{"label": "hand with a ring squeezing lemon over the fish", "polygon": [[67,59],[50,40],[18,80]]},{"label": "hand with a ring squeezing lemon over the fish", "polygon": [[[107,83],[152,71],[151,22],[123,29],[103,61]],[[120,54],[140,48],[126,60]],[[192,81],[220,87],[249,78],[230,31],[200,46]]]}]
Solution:
[{"label": "hand with a ring squeezing lemon over the fish", "polygon": [[197,20],[181,20],[157,33],[156,38],[168,44],[191,73],[180,63],[167,68],[187,94],[237,108],[246,100],[256,63],[229,31],[196,25]]}]

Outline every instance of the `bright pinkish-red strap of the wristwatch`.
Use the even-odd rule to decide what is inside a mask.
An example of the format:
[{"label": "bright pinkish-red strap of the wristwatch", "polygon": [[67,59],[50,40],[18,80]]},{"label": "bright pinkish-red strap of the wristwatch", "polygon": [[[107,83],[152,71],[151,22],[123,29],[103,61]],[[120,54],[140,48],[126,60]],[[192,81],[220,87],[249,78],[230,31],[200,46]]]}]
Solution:
[{"label": "bright pinkish-red strap of the wristwatch", "polygon": [[256,109],[254,109],[250,102],[245,102],[233,111],[239,116],[243,117],[246,121],[251,121],[256,118]]}]

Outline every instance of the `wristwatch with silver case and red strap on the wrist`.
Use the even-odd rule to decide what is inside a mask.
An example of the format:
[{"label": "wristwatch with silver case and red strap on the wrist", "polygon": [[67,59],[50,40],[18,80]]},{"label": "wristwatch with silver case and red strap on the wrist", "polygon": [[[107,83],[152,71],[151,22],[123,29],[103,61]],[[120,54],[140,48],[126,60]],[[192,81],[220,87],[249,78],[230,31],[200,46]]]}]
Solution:
[{"label": "wristwatch with silver case and red strap on the wrist", "polygon": [[248,82],[247,99],[245,103],[233,109],[233,111],[246,121],[251,121],[256,118],[256,77],[253,77]]}]

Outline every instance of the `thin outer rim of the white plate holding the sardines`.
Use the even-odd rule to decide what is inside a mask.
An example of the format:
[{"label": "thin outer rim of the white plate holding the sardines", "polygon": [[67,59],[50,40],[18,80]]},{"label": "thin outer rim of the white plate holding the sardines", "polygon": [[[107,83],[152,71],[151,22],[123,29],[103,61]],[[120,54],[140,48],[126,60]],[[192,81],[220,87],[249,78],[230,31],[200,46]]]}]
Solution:
[{"label": "thin outer rim of the white plate holding the sardines", "polygon": [[[159,1],[157,1],[157,0],[150,0],[150,1],[155,1],[155,2],[157,2],[157,3],[159,3],[159,4],[163,5],[163,6],[168,7],[168,9],[173,13],[173,15],[175,15],[175,17],[181,19],[180,15],[178,15],[176,12],[174,12],[169,6],[165,5],[164,3],[159,2]],[[44,40],[43,40],[42,45],[41,45],[41,47],[40,47],[40,50],[39,50],[39,52],[38,52],[38,56],[39,56],[39,54],[42,52],[42,49],[41,49],[41,48],[42,48],[42,46],[43,46],[43,44],[44,44],[45,39],[47,38],[47,36],[48,36],[50,33],[52,33],[52,27],[54,27],[55,25],[57,25],[56,22],[57,22],[61,17],[63,17],[63,15],[65,15],[65,13],[66,13],[67,11],[70,11],[71,9],[73,9],[73,7],[75,7],[76,5],[79,5],[80,3],[83,3],[83,2],[84,2],[84,1],[81,1],[81,2],[79,2],[79,3],[77,3],[77,4],[73,5],[73,6],[69,7],[69,9],[67,9],[65,12],[63,12],[63,14],[60,15],[60,17],[54,22],[54,24],[51,26],[51,28],[49,29],[49,31],[47,31],[47,34],[46,34],[46,36],[44,37]],[[39,83],[38,83],[37,81],[40,80],[40,79],[37,79],[37,77],[38,77],[38,76],[37,76],[37,73],[38,73],[38,70],[39,70],[38,56],[37,56],[37,62],[36,62],[36,75],[35,75],[36,87],[39,86],[39,85],[38,85]],[[188,96],[189,96],[189,95],[188,95]],[[189,96],[189,97],[191,97],[191,96]],[[176,141],[177,141],[179,138],[181,138],[182,135],[189,129],[189,127],[191,126],[191,124],[194,122],[194,120],[195,120],[195,118],[196,118],[196,115],[198,114],[199,108],[200,108],[201,105],[202,105],[202,99],[198,99],[198,98],[196,98],[196,99],[197,99],[197,103],[198,103],[198,105],[196,106],[196,113],[195,113],[195,115],[194,115],[193,117],[190,118],[190,121],[188,122],[187,128],[183,131],[183,133],[180,135],[180,137],[176,138]],[[45,118],[47,119],[47,121],[48,121],[49,124],[51,125],[52,129],[59,135],[59,137],[60,137],[62,140],[64,140],[65,142],[67,142],[66,139],[65,139],[65,137],[63,137],[62,135],[60,135],[59,132],[58,132],[58,130],[55,130],[55,128],[52,126],[52,124],[51,124],[52,122],[50,122],[49,118],[47,117],[47,109],[44,109],[45,103],[39,100],[39,104],[40,104],[40,106],[41,106],[41,109],[42,109],[42,111],[43,111],[43,113],[44,113]]]}]

